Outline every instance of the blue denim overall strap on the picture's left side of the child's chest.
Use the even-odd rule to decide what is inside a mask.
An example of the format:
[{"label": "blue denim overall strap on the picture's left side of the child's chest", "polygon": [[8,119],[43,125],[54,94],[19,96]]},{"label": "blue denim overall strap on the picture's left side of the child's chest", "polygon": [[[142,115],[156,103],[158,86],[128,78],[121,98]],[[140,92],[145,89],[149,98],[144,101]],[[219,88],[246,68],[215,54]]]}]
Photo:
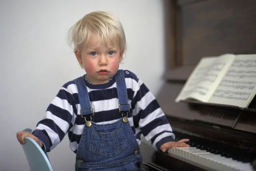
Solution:
[{"label": "blue denim overall strap on the picture's left side of the child's chest", "polygon": [[85,85],[83,77],[74,79],[78,90],[79,102],[81,106],[80,113],[83,117],[86,115],[93,115],[93,107],[90,103],[89,94]]}]

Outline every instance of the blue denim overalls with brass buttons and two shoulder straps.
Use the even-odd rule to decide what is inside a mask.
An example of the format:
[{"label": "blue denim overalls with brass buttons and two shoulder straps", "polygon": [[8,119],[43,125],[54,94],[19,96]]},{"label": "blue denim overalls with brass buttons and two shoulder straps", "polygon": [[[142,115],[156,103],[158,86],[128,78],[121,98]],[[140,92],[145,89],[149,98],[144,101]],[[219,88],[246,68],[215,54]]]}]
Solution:
[{"label": "blue denim overalls with brass buttons and two shoulder straps", "polygon": [[94,111],[84,79],[74,80],[86,123],[76,151],[76,171],[141,171],[139,145],[127,118],[130,105],[123,70],[118,70],[115,79],[120,119],[104,125],[91,121]]}]

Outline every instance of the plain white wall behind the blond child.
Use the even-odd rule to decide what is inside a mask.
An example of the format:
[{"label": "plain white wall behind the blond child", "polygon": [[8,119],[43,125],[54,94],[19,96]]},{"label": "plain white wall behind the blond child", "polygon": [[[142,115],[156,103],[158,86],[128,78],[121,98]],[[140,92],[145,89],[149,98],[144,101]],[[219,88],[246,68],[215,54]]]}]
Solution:
[{"label": "plain white wall behind the blond child", "polygon": [[[34,128],[59,88],[81,76],[67,31],[91,11],[121,20],[128,50],[122,69],[154,93],[163,84],[163,0],[0,0],[0,171],[29,170],[16,132]],[[49,153],[55,171],[74,170],[67,136]]]}]

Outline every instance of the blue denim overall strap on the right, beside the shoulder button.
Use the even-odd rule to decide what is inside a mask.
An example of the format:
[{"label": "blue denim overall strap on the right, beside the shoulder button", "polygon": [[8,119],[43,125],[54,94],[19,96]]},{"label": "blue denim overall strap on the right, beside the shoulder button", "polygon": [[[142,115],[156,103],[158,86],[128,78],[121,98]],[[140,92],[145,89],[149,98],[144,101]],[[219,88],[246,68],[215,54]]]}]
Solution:
[{"label": "blue denim overall strap on the right, beside the shoulder button", "polygon": [[116,78],[117,95],[119,100],[119,112],[127,113],[130,111],[130,104],[128,102],[124,71],[118,70],[115,75],[115,78]]}]

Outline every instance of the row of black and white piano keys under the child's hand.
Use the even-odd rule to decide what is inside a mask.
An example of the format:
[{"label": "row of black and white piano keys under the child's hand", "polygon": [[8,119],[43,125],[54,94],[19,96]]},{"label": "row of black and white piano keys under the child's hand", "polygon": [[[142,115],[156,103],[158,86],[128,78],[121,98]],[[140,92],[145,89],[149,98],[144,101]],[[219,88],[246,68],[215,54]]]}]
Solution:
[{"label": "row of black and white piano keys under the child's hand", "polygon": [[174,133],[179,139],[189,137],[190,140],[187,144],[190,147],[169,149],[168,154],[171,157],[179,158],[186,162],[197,163],[198,165],[205,166],[209,170],[254,171],[252,163],[256,160],[256,151],[241,149],[230,146],[229,144],[207,140],[186,133]]}]

